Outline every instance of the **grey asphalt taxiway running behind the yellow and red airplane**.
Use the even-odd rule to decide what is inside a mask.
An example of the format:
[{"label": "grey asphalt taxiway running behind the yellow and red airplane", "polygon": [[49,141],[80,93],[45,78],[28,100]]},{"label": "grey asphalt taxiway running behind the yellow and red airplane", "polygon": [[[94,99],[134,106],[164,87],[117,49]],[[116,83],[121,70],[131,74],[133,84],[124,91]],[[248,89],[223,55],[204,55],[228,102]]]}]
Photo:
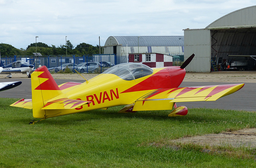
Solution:
[{"label": "grey asphalt taxiway running behind the yellow and red airplane", "polygon": [[[17,98],[17,99],[31,99],[31,79],[30,78],[15,78],[8,79],[2,78],[0,82],[8,81],[22,81],[22,84],[13,89],[0,92],[0,97],[4,98]],[[71,79],[55,79],[58,85],[65,82],[80,82],[84,80],[71,80]],[[205,86],[205,85],[224,85],[232,83],[221,82],[182,82],[180,87],[192,86]],[[243,110],[243,111],[256,111],[256,84],[245,83],[244,87],[239,91],[222,97],[216,101],[195,101],[195,102],[181,102],[177,106],[183,105],[188,108],[210,108],[210,109],[226,109],[226,110]],[[10,104],[13,102],[10,102]]]}]

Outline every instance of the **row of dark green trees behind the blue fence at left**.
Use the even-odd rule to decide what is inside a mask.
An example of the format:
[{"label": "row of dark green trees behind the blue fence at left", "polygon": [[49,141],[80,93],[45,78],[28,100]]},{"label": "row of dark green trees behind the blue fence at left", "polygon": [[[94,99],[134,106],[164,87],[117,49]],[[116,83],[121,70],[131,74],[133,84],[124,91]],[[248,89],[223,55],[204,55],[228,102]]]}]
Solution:
[{"label": "row of dark green trees behind the blue fence at left", "polygon": [[12,57],[14,55],[34,55],[33,53],[41,53],[43,56],[51,55],[92,55],[99,54],[99,46],[93,46],[87,43],[80,43],[76,47],[67,40],[65,45],[56,47],[55,45],[47,45],[46,43],[38,42],[31,43],[26,49],[17,49],[10,44],[0,43],[1,56]]}]

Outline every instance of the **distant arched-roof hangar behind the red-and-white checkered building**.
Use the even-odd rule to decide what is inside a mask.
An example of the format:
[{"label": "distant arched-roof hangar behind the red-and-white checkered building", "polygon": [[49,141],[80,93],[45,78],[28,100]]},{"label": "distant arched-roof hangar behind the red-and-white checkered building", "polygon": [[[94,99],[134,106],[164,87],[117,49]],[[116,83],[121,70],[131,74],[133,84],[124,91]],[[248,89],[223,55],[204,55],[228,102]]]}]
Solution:
[{"label": "distant arched-roof hangar behind the red-and-white checkered building", "polygon": [[115,54],[117,63],[127,62],[127,53],[184,54],[184,36],[110,36],[104,54]]}]

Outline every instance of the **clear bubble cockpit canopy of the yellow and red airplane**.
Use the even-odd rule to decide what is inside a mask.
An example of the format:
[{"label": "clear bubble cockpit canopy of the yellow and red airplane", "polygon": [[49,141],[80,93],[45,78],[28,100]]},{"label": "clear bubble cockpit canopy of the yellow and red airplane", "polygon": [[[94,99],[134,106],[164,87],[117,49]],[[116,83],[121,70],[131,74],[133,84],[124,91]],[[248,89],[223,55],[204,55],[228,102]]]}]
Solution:
[{"label": "clear bubble cockpit canopy of the yellow and red airplane", "polygon": [[126,81],[131,81],[151,75],[153,69],[141,63],[122,63],[111,67],[103,73],[114,74]]}]

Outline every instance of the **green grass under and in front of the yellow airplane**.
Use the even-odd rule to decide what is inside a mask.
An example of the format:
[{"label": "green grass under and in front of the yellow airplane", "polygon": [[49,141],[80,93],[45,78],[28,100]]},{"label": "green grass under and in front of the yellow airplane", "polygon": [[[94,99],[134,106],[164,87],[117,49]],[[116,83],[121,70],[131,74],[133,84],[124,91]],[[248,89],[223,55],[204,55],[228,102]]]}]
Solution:
[{"label": "green grass under and in front of the yellow airplane", "polygon": [[180,137],[256,127],[252,112],[189,109],[185,117],[170,118],[170,111],[118,114],[121,107],[112,107],[29,125],[32,110],[9,106],[17,100],[0,98],[0,167],[256,166],[255,149],[226,147],[230,153],[249,155],[241,157],[205,153],[194,144],[181,144],[179,150],[166,147]]}]

